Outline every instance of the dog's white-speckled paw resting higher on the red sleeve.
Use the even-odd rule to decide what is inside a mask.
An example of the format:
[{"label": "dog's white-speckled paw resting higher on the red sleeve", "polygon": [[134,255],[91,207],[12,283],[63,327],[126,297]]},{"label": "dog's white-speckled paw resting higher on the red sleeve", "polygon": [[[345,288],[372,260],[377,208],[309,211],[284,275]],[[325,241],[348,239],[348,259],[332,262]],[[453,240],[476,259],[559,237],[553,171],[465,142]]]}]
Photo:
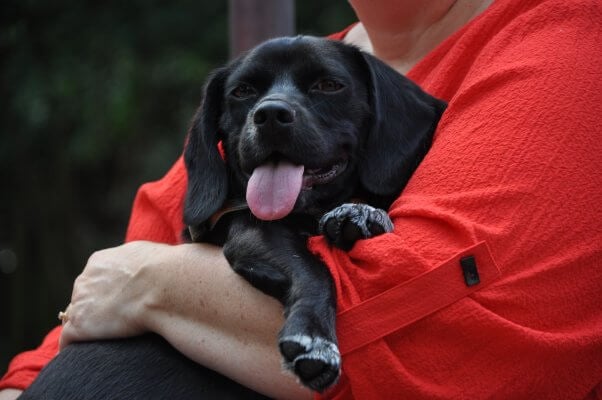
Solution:
[{"label": "dog's white-speckled paw resting higher on the red sleeve", "polygon": [[393,222],[387,212],[367,204],[345,203],[320,219],[320,233],[343,250],[350,250],[360,239],[392,231]]}]

